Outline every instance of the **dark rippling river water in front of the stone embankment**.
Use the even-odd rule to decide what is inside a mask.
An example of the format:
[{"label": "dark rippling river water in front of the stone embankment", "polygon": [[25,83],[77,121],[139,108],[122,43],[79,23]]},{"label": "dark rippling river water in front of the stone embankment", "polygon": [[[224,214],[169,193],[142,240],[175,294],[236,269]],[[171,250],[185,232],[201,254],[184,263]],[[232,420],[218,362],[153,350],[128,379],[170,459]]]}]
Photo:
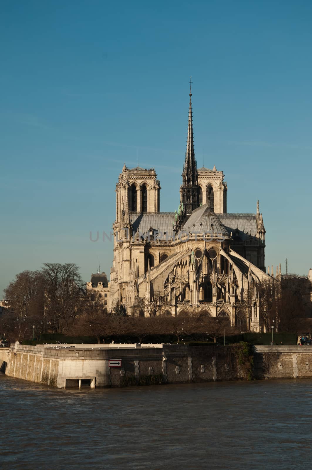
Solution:
[{"label": "dark rippling river water in front of the stone embankment", "polygon": [[0,403],[1,469],[311,467],[309,380],[79,391],[0,374]]}]

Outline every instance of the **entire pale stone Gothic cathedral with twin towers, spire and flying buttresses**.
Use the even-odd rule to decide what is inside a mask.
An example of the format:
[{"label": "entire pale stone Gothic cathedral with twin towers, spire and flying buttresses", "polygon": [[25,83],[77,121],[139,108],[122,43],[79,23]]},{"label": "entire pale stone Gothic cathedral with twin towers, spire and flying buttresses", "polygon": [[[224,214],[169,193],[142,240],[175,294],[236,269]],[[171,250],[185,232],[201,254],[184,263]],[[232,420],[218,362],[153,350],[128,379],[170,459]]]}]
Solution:
[{"label": "entire pale stone Gothic cathedral with twin towers, spire and flying buttresses", "polygon": [[265,227],[256,213],[227,213],[227,184],[217,170],[197,168],[192,88],[187,149],[175,211],[160,211],[154,169],[125,164],[116,185],[110,306],[128,315],[219,315],[242,331],[260,331],[257,284],[265,274]]}]

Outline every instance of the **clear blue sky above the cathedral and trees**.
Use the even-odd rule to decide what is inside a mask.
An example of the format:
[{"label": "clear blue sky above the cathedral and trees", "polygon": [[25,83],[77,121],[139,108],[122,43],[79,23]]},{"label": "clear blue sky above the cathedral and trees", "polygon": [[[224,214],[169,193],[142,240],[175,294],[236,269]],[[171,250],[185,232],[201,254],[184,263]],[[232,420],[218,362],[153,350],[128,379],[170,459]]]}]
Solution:
[{"label": "clear blue sky above the cathedral and trees", "polygon": [[[0,292],[24,269],[109,274],[124,162],[179,204],[189,77],[198,165],[255,212],[266,266],[312,267],[311,1],[8,1],[0,15]],[[4,47],[3,47],[4,45]]]}]

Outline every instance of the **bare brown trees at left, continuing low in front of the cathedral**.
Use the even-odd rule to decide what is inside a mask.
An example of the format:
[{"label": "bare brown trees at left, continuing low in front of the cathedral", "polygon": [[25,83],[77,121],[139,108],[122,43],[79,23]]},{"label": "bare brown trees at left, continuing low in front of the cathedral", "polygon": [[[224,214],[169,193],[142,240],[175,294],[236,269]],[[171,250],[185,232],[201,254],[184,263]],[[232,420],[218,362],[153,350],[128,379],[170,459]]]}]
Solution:
[{"label": "bare brown trees at left, continuing low in front of the cathedral", "polygon": [[[211,317],[160,315],[162,299],[142,307],[149,318],[127,317],[122,307],[107,312],[98,294],[85,290],[78,266],[46,263],[40,271],[17,274],[5,290],[10,310],[0,316],[0,333],[8,340],[39,337],[40,333],[64,333],[96,337],[128,336],[143,341],[148,335],[203,334],[213,339],[230,332],[229,322]],[[233,331],[232,331],[233,332]]]}]

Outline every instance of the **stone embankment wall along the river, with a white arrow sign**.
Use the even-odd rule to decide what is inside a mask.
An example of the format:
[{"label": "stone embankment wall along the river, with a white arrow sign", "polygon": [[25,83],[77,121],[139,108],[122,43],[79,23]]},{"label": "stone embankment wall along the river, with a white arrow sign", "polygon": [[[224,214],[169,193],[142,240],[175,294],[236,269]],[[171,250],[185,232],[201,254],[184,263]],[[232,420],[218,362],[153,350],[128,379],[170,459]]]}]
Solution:
[{"label": "stone embankment wall along the river, with a white arrow sign", "polygon": [[[231,346],[16,343],[0,348],[0,370],[11,377],[57,388],[247,378]],[[255,346],[250,371],[256,379],[312,378],[312,347]]]}]

